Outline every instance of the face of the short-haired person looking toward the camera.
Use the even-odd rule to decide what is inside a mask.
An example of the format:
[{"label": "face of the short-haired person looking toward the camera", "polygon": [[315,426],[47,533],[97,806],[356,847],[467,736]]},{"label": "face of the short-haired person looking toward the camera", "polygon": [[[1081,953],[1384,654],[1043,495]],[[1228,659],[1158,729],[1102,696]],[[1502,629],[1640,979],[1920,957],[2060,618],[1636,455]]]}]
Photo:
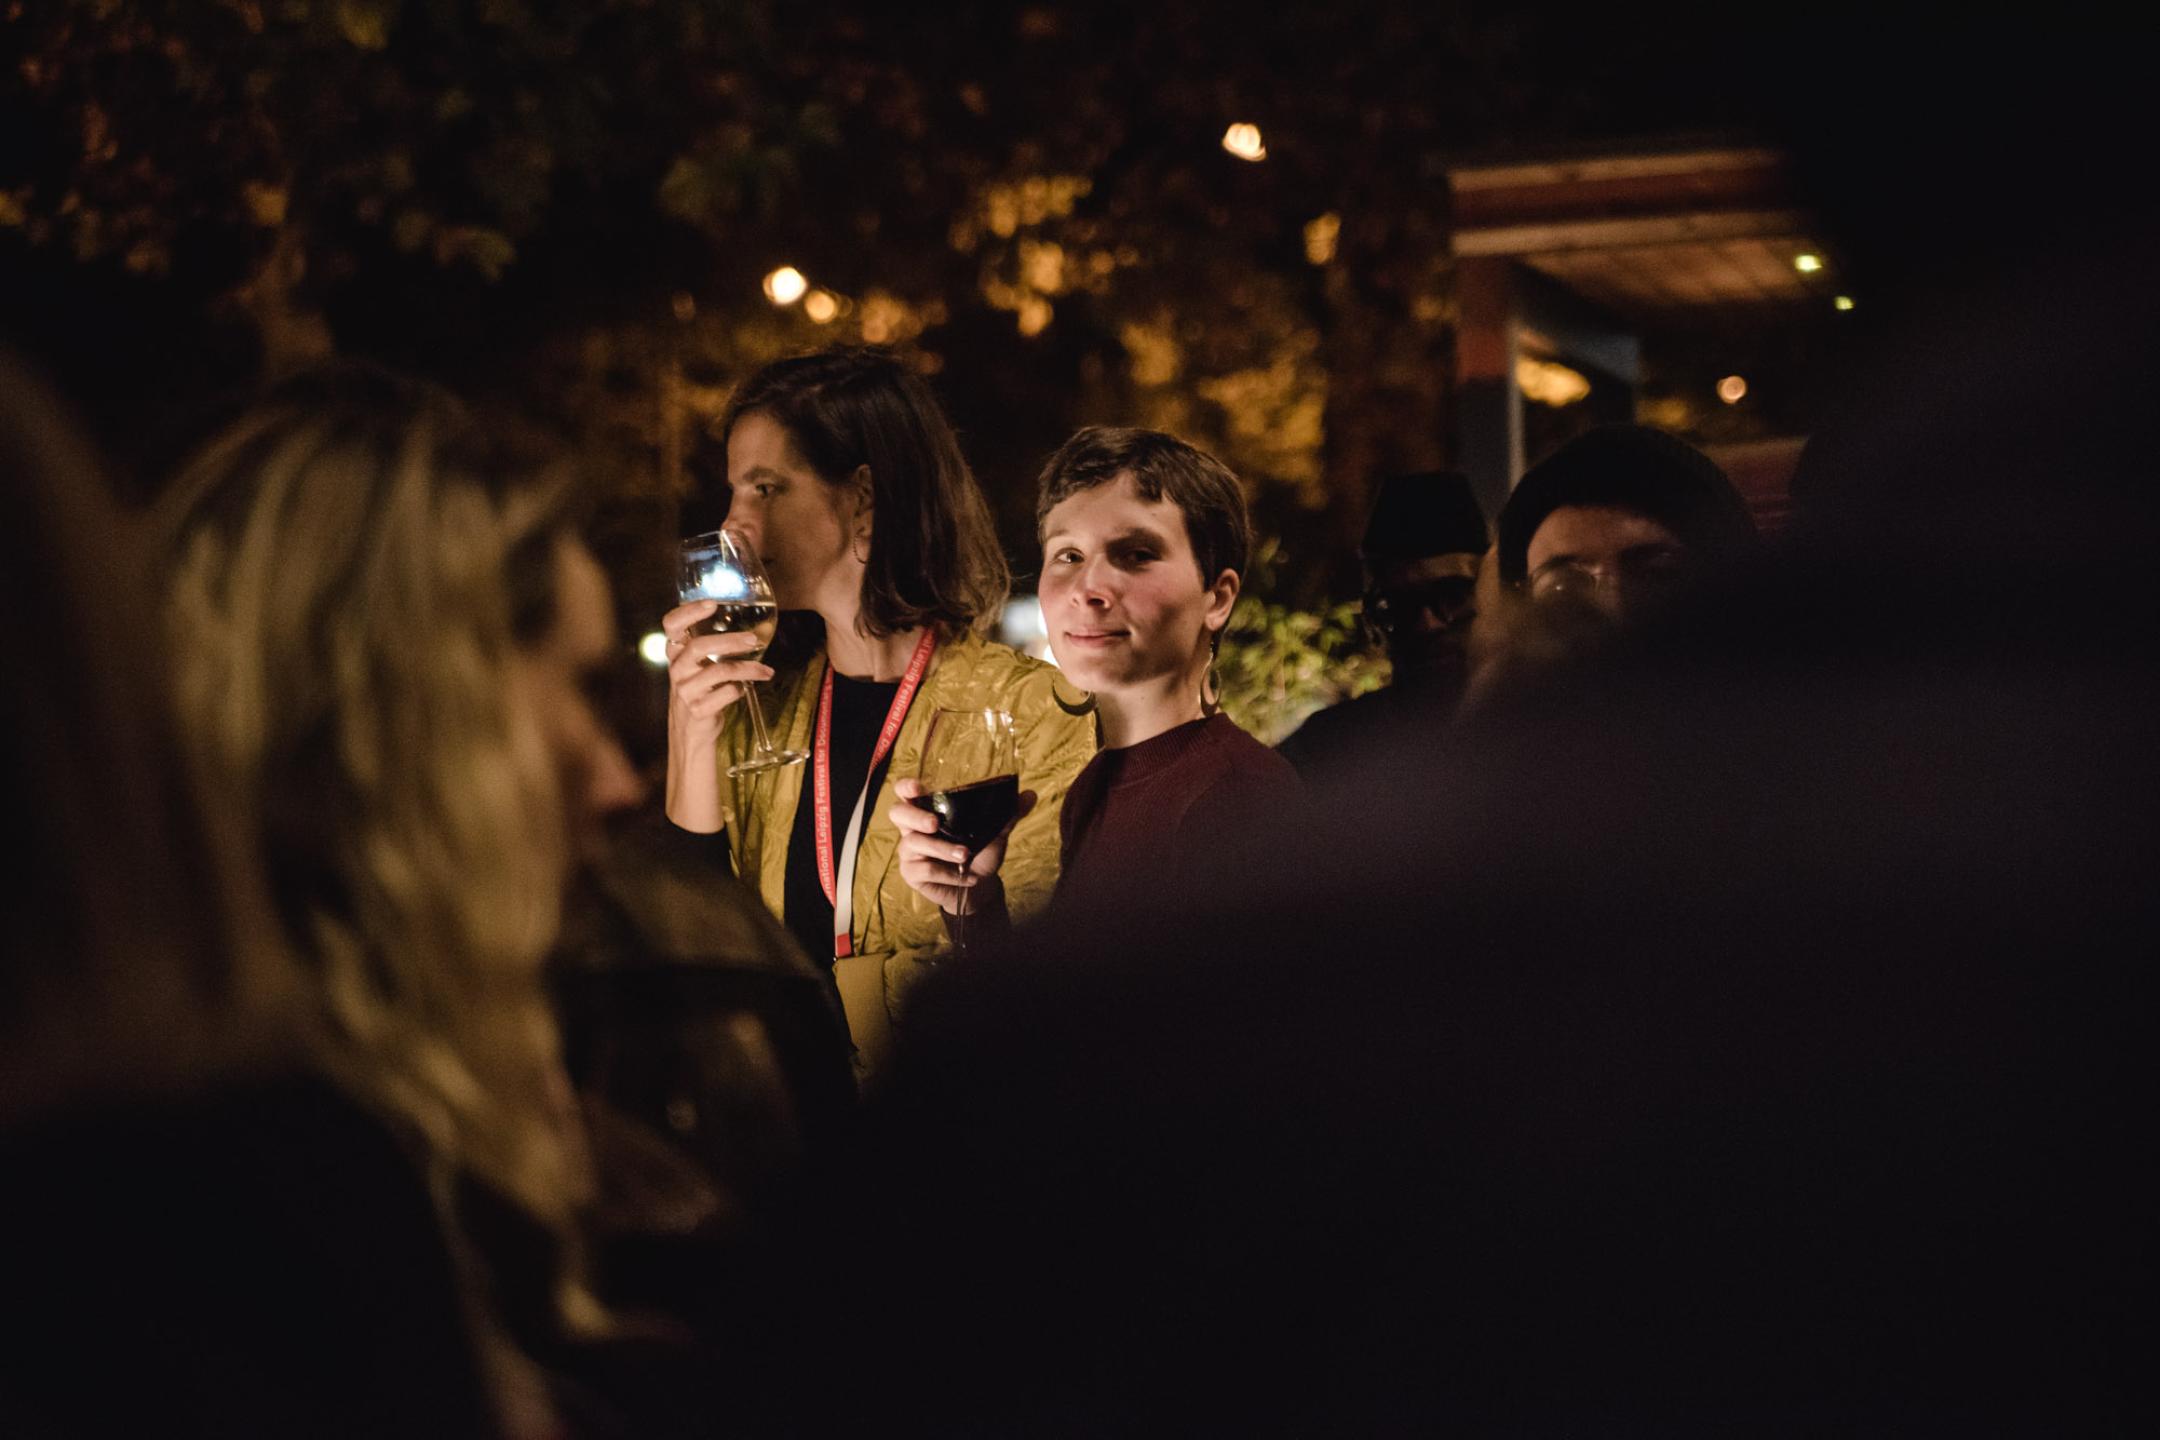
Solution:
[{"label": "face of the short-haired person looking toward the camera", "polygon": [[1043,624],[1058,667],[1095,693],[1190,678],[1229,624],[1238,572],[1201,581],[1175,503],[1143,499],[1132,475],[1080,490],[1043,516]]}]

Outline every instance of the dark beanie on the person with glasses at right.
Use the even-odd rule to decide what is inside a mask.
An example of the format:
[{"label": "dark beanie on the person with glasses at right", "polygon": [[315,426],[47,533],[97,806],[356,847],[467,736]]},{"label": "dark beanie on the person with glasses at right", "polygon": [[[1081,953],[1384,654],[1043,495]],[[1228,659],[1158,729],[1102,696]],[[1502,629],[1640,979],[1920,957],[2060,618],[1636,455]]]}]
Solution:
[{"label": "dark beanie on the person with glasses at right", "polygon": [[1529,538],[1564,505],[1650,516],[1709,563],[1756,542],[1754,516],[1717,462],[1648,425],[1598,425],[1529,466],[1499,512],[1499,579],[1529,570]]}]

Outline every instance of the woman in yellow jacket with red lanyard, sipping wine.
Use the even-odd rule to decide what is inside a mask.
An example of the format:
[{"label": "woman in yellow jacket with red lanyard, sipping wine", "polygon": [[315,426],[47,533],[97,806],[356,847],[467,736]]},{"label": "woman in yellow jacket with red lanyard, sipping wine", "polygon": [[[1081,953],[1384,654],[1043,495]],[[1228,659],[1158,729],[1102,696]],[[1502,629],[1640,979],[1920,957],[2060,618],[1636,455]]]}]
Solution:
[{"label": "woman in yellow jacket with red lanyard, sipping wine", "polygon": [[899,874],[899,831],[873,823],[894,803],[892,784],[920,773],[931,717],[1013,717],[1020,784],[1035,797],[1009,840],[1009,900],[1022,911],[1056,883],[1054,816],[1095,751],[1093,725],[1058,704],[1052,667],[978,635],[1009,583],[989,505],[931,389],[890,352],[767,365],[737,391],[721,434],[728,529],[756,546],[782,611],[823,622],[771,719],[775,745],[812,753],[726,775],[752,747],[734,702],[775,671],[732,658],[756,650],[750,635],[693,635],[711,600],[683,604],[663,622],[667,816],[726,829],[737,874],[832,963],[868,1069],[901,991],[946,943],[940,907]]}]

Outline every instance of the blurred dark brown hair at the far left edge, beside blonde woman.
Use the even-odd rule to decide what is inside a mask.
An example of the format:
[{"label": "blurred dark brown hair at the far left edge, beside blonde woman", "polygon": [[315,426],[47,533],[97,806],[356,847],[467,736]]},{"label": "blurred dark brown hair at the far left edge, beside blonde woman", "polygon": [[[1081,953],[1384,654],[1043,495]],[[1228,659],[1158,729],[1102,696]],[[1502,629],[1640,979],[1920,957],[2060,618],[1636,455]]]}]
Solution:
[{"label": "blurred dark brown hair at the far left edge, beside blonde woman", "polygon": [[171,1092],[294,1034],[244,840],[175,743],[140,535],[60,404],[0,354],[0,630],[15,855],[0,941],[0,1120]]}]

